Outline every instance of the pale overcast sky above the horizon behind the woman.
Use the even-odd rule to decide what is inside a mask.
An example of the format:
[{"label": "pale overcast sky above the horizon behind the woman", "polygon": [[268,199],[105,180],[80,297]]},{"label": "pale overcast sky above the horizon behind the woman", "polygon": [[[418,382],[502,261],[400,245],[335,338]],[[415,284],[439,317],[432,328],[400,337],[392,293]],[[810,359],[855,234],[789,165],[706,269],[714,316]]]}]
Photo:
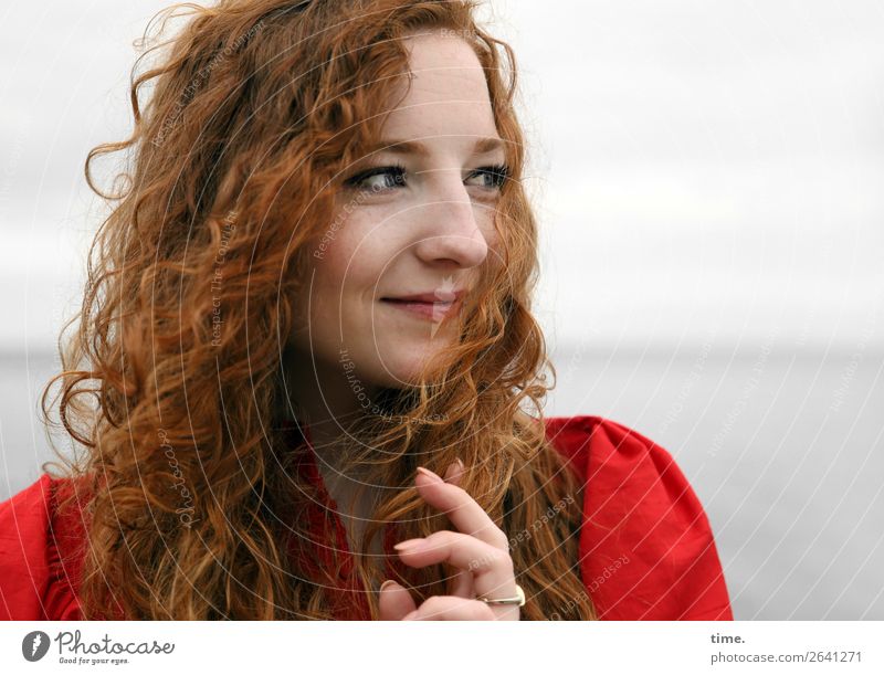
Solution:
[{"label": "pale overcast sky above the horizon behind the woman", "polygon": [[[0,349],[53,347],[165,2],[4,3]],[[884,4],[491,0],[522,68],[556,344],[882,345]]]}]

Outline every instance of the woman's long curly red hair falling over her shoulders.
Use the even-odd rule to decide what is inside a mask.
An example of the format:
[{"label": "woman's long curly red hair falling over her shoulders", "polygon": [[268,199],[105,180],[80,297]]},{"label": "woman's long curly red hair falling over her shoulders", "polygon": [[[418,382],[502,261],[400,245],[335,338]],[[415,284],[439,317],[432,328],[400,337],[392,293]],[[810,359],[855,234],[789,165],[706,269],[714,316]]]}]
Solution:
[{"label": "woman's long curly red hair falling over her shoulders", "polygon": [[[156,35],[148,28],[134,131],[86,160],[113,208],[42,398],[80,449],[64,475],[90,495],[84,616],[335,618],[336,570],[311,578],[284,545],[286,534],[307,540],[306,524],[280,514],[314,488],[285,470],[283,345],[336,177],[377,141],[408,78],[403,36],[444,29],[475,50],[506,141],[504,259],[444,362],[418,387],[386,391],[385,414],[352,428],[352,466],[401,488],[376,506],[356,570],[377,587],[366,551],[385,523],[402,538],[445,526],[411,489],[414,467],[461,457],[463,487],[516,542],[523,615],[596,618],[578,569],[582,485],[543,431],[544,371],[555,370],[530,312],[537,231],[520,183],[515,60],[474,13],[471,0],[222,0],[173,6]],[[118,151],[125,166],[103,191],[92,162]],[[445,593],[446,571],[401,569],[399,580],[423,599]],[[368,605],[377,616],[376,593]]]}]

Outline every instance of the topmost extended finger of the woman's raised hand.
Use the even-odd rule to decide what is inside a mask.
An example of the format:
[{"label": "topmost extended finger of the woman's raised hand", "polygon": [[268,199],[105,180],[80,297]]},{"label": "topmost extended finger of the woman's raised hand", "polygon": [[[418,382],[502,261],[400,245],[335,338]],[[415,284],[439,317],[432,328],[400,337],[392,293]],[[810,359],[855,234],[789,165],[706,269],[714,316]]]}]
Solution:
[{"label": "topmost extended finger of the woman's raised hand", "polygon": [[471,535],[501,550],[509,550],[507,536],[465,489],[445,483],[423,466],[418,467],[414,483],[421,497],[430,506],[444,511],[451,524],[461,532]]}]

